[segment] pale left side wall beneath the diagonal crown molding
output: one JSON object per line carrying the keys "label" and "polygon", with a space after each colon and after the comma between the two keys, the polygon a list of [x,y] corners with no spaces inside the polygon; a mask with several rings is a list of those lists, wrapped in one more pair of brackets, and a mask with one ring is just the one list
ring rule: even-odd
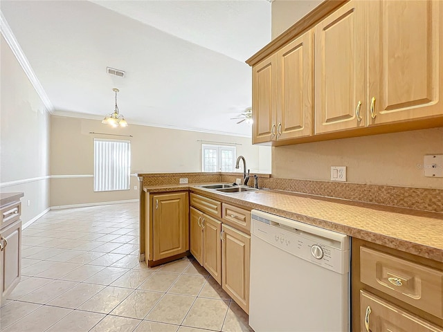
{"label": "pale left side wall beneath the diagonal crown molding", "polygon": [[0,190],[24,192],[26,223],[49,207],[50,116],[3,36],[0,43]]}

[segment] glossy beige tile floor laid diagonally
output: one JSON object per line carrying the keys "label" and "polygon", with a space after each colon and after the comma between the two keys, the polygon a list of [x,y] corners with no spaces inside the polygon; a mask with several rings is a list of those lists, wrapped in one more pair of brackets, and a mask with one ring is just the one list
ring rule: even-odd
{"label": "glossy beige tile floor laid diagonally", "polygon": [[22,244],[2,332],[252,331],[192,257],[156,268],[138,262],[138,203],[51,210]]}

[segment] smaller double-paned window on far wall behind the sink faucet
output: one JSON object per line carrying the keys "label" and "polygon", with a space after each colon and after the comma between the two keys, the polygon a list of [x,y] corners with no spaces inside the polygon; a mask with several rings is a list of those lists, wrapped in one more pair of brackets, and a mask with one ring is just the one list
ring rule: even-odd
{"label": "smaller double-paned window on far wall behind the sink faucet", "polygon": [[201,145],[201,172],[234,172],[235,147]]}

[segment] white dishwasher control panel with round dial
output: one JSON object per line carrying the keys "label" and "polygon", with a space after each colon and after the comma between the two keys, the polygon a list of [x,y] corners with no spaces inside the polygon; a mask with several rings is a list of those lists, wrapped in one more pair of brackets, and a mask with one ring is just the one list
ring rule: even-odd
{"label": "white dishwasher control panel with round dial", "polygon": [[[336,273],[349,272],[349,250],[336,248],[335,243],[330,239],[313,234],[315,230],[306,232],[297,227],[289,227],[263,217],[257,218],[254,215],[251,216],[251,219],[252,236],[256,236],[300,259],[305,259]],[[321,230],[323,231],[323,229]],[[322,233],[322,235],[324,234]],[[340,235],[343,237],[343,241],[349,242],[347,236]]]}

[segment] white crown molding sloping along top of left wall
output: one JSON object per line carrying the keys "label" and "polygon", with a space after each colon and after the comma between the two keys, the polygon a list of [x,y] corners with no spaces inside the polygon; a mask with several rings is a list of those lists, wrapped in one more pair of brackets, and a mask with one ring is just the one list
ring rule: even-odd
{"label": "white crown molding sloping along top of left wall", "polygon": [[19,45],[19,42],[17,42],[17,39],[15,38],[15,35],[12,33],[8,21],[6,21],[6,18],[3,16],[3,12],[1,12],[1,10],[0,10],[0,31],[1,35],[3,35],[9,47],[11,48],[12,53],[15,55],[17,61],[21,65],[21,68],[23,68],[26,76],[28,77],[28,80],[30,81],[31,84],[33,84],[33,87],[37,92],[37,94],[39,95],[40,99],[42,100],[46,108],[46,111],[52,114],[54,112],[54,106],[51,100],[49,100],[48,95],[46,95],[46,92],[44,91],[42,84],[40,84],[37,75],[35,75],[33,68],[30,66],[30,63],[28,62],[26,55],[24,55],[23,50]]}

